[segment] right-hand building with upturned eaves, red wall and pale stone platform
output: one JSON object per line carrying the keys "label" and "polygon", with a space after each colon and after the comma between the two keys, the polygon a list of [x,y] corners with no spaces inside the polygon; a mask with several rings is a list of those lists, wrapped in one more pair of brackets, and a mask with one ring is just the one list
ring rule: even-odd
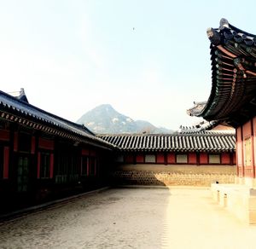
{"label": "right-hand building with upturned eaves, red wall and pale stone platform", "polygon": [[256,36],[222,19],[207,30],[211,41],[212,90],[191,116],[236,128],[236,184],[212,185],[216,200],[256,223]]}

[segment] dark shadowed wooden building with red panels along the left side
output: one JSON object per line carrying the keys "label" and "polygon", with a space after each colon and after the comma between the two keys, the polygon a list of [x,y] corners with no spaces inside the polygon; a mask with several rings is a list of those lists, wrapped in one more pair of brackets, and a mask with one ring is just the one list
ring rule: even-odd
{"label": "dark shadowed wooden building with red panels along the left side", "polygon": [[0,91],[1,211],[106,184],[114,146]]}

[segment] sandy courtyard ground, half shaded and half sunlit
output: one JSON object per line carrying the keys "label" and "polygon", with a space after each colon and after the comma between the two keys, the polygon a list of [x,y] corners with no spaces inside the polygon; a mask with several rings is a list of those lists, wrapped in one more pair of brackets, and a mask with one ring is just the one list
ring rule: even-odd
{"label": "sandy courtyard ground, half shaded and half sunlit", "polygon": [[114,188],[0,223],[0,248],[256,248],[207,188]]}

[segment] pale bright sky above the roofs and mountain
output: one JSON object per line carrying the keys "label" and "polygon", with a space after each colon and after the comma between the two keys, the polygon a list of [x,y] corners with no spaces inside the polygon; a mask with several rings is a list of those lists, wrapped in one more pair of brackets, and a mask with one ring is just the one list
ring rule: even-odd
{"label": "pale bright sky above the roofs and mountain", "polygon": [[207,28],[256,34],[255,1],[0,0],[0,90],[76,122],[101,104],[177,130],[212,87]]}

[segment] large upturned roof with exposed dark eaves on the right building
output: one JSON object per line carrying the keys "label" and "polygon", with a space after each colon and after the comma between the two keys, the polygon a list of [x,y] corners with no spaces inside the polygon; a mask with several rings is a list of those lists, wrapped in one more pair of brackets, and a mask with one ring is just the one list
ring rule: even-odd
{"label": "large upturned roof with exposed dark eaves on the right building", "polygon": [[238,126],[256,114],[256,36],[222,19],[207,30],[211,41],[212,90],[189,115]]}

